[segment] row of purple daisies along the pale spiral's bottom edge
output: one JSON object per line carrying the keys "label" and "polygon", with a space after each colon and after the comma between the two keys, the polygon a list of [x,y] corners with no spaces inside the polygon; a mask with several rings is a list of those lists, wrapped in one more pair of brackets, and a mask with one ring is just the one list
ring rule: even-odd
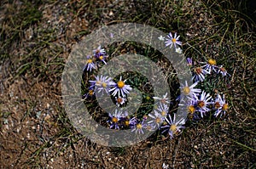
{"label": "row of purple daisies along the pale spiral's bottom edge", "polygon": [[[176,114],[173,117],[168,113],[168,104],[170,104],[170,99],[167,97],[167,93],[161,98],[154,97],[156,101],[156,109],[153,113],[148,115],[143,115],[143,118],[139,119],[137,116],[131,118],[127,112],[122,110],[115,110],[113,114],[109,114],[109,127],[113,129],[128,129],[131,128],[131,132],[136,134],[143,134],[145,131],[155,131],[157,129],[163,129],[162,132],[167,132],[170,138],[184,128],[185,119],[176,119]],[[165,123],[165,126],[162,124]]]}

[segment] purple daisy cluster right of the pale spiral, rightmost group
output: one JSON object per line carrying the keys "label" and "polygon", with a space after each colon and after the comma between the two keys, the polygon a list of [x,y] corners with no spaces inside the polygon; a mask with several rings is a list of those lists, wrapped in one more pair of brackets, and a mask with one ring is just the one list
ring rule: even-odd
{"label": "purple daisy cluster right of the pale spiral, rightmost group", "polygon": [[187,105],[187,111],[189,113],[189,118],[192,120],[198,120],[207,115],[208,112],[213,111],[213,116],[225,115],[226,111],[229,109],[226,100],[224,99],[224,94],[221,96],[217,93],[212,96],[210,93],[201,91],[200,89],[194,89],[193,87],[207,81],[207,76],[230,76],[230,74],[225,70],[223,65],[218,66],[216,59],[208,59],[207,62],[199,62],[199,64],[193,63],[192,59],[187,58],[188,65],[191,67],[193,77],[192,81],[195,83],[190,87],[183,87],[183,93],[189,93],[189,101],[187,103],[181,103]]}

